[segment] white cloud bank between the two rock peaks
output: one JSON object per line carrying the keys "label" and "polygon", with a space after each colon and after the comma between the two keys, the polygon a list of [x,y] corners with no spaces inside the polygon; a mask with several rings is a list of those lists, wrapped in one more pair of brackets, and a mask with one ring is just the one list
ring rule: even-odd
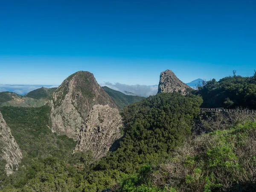
{"label": "white cloud bank between the two rock peaks", "polygon": [[101,84],[101,86],[107,86],[113,90],[118,90],[122,93],[126,93],[126,91],[134,93],[138,96],[144,96],[144,97],[148,97],[150,95],[155,95],[157,94],[158,91],[158,85],[140,85],[140,84],[136,84],[136,85],[128,85],[128,84],[121,84],[121,83],[115,83],[112,84],[110,82],[105,82],[103,84]]}

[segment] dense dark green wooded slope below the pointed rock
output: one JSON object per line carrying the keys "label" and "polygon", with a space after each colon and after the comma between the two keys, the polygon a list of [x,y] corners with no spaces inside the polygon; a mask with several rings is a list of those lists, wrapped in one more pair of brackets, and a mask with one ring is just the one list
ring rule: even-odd
{"label": "dense dark green wooded slope below the pointed rock", "polygon": [[201,98],[160,93],[124,108],[125,135],[120,146],[100,161],[101,169],[134,173],[144,163],[159,163],[191,134]]}

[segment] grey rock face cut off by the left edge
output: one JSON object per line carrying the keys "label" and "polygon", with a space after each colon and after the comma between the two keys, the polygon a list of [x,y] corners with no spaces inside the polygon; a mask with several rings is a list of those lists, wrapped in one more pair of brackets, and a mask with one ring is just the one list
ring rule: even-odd
{"label": "grey rock face cut off by the left edge", "polygon": [[0,113],[0,160],[6,161],[6,175],[11,175],[15,169],[17,170],[21,159],[20,148]]}

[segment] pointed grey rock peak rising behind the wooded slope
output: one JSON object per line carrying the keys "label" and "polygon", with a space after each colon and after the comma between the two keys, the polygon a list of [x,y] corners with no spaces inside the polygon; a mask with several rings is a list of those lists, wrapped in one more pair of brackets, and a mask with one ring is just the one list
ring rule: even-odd
{"label": "pointed grey rock peak rising behind the wooded slope", "polygon": [[178,79],[171,70],[163,71],[160,74],[160,82],[157,93],[178,92],[182,95],[186,95],[189,90],[192,90],[192,88],[180,81],[180,79]]}

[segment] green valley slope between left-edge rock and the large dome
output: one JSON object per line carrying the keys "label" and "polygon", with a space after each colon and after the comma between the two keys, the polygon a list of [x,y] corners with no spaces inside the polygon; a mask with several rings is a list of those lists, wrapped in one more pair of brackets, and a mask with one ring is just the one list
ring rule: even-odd
{"label": "green valley slope between left-edge rock and the large dome", "polygon": [[49,107],[1,107],[0,111],[23,154],[20,168],[14,175],[4,177],[5,173],[0,173],[0,189],[3,186],[22,188],[33,177],[33,169],[39,169],[47,157],[59,160],[71,157],[75,142],[67,136],[57,136],[49,129]]}

